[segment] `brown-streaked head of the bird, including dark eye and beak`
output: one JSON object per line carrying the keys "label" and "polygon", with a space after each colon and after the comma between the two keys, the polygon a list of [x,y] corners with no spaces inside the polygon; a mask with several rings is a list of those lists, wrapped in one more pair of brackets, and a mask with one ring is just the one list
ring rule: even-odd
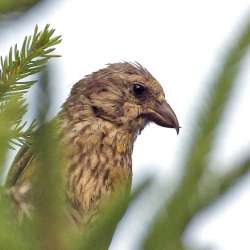
{"label": "brown-streaked head of the bird, including dark eye and beak", "polygon": [[86,116],[141,131],[146,124],[174,128],[177,117],[158,81],[140,64],[114,63],[74,85],[71,96],[85,105]]}

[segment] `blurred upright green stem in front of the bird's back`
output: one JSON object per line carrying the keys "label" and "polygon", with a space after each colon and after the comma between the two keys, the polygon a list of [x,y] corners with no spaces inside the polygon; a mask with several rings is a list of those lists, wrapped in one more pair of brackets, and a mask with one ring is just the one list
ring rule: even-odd
{"label": "blurred upright green stem in front of the bird's back", "polygon": [[[36,194],[33,196],[34,222],[37,238],[48,250],[66,249],[64,229],[67,221],[64,214],[64,193],[60,178],[62,147],[59,143],[56,121],[46,123],[46,115],[53,99],[48,91],[49,67],[43,71],[40,90],[37,93],[37,120],[40,127],[34,134],[34,154],[37,160],[37,173],[34,176]],[[48,205],[49,204],[49,205]],[[28,239],[27,239],[28,240]]]}

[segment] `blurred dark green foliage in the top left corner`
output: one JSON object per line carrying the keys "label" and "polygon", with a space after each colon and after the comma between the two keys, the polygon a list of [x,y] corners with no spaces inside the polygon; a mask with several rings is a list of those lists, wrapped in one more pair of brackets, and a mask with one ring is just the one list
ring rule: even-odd
{"label": "blurred dark green foliage in the top left corner", "polygon": [[0,16],[29,10],[41,0],[0,0]]}

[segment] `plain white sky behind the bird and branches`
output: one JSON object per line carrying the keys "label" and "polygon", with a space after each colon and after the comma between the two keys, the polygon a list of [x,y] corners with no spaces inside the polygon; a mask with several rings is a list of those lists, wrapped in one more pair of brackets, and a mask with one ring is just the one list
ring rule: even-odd
{"label": "plain white sky behind the bird and branches", "polygon": [[[55,64],[58,106],[73,83],[106,63],[128,60],[147,67],[163,85],[182,129],[178,137],[173,130],[155,125],[145,129],[133,155],[134,182],[140,182],[149,174],[156,175],[160,185],[166,179],[172,182],[180,175],[177,163],[192,130],[196,107],[202,105],[208,76],[220,63],[239,24],[250,14],[250,1],[51,2],[51,8],[31,12],[20,22],[13,23],[11,30],[1,30],[1,54],[32,33],[36,23],[40,27],[51,23],[57,33],[63,35],[59,46],[63,57]],[[249,65],[248,58],[239,79],[240,89],[234,94],[221,127],[221,138],[213,154],[215,162],[230,163],[242,151],[250,150]],[[248,176],[223,202],[200,215],[192,223],[186,240],[216,250],[248,250],[249,181]],[[146,214],[154,204],[151,195],[130,209],[111,250],[137,249],[136,239],[145,230]]]}

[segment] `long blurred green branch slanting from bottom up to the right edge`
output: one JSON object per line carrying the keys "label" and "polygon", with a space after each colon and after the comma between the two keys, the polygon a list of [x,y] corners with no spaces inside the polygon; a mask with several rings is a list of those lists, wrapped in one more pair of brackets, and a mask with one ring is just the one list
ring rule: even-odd
{"label": "long blurred green branch slanting from bottom up to the right edge", "polygon": [[[206,108],[203,107],[198,115],[197,126],[193,131],[193,140],[186,152],[183,178],[176,192],[165,202],[161,212],[152,223],[144,242],[144,249],[173,249],[172,247],[181,239],[183,231],[194,215],[190,211],[197,210],[193,207],[193,200],[197,199],[196,195],[202,176],[208,168],[209,153],[215,140],[216,129],[223,118],[225,107],[240,73],[241,62],[249,46],[250,20],[247,21],[242,34],[229,50],[221,70],[210,85],[210,90],[207,91],[209,96]],[[239,170],[239,173],[241,172]],[[237,179],[237,173],[225,177],[222,182],[224,184],[220,188],[221,192],[226,190],[230,184],[235,183]],[[221,192],[214,194],[215,197],[221,195]],[[200,206],[203,205],[198,205],[198,207]]]}

